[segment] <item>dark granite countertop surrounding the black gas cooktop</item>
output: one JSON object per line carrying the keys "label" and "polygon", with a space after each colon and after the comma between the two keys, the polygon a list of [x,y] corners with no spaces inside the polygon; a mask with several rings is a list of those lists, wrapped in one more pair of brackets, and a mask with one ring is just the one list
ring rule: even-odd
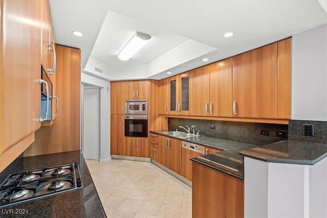
{"label": "dark granite countertop surrounding the black gas cooktop", "polygon": [[[18,157],[0,173],[0,183],[8,175],[44,167],[78,162],[83,188],[57,195],[8,205],[0,209],[1,217],[106,217],[97,190],[80,151],[31,157]],[[28,213],[22,214],[22,211]]]}

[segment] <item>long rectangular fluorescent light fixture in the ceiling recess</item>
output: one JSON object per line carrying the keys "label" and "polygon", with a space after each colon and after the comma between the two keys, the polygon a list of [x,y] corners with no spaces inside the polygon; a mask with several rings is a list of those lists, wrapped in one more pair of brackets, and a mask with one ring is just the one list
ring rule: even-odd
{"label": "long rectangular fluorescent light fixture in the ceiling recess", "polygon": [[125,45],[124,49],[118,54],[118,58],[122,61],[127,61],[135,53],[140,50],[149,40],[151,36],[144,33],[136,33],[131,40]]}

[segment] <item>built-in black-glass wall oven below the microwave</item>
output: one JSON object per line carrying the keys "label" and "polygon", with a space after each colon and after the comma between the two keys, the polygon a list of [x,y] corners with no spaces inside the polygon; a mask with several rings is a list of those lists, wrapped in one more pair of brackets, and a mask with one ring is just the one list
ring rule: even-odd
{"label": "built-in black-glass wall oven below the microwave", "polygon": [[148,115],[125,115],[125,136],[148,137]]}

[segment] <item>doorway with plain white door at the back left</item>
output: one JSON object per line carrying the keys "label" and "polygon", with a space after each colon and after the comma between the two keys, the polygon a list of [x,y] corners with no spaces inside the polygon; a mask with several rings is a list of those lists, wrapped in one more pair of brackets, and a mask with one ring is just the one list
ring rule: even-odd
{"label": "doorway with plain white door at the back left", "polygon": [[99,160],[99,87],[83,85],[82,149],[85,159]]}

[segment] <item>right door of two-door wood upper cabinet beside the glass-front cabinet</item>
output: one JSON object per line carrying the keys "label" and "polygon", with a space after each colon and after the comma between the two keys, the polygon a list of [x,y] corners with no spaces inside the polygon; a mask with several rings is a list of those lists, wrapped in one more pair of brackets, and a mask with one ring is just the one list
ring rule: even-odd
{"label": "right door of two-door wood upper cabinet beside the glass-front cabinet", "polygon": [[209,113],[232,117],[232,58],[210,64]]}

